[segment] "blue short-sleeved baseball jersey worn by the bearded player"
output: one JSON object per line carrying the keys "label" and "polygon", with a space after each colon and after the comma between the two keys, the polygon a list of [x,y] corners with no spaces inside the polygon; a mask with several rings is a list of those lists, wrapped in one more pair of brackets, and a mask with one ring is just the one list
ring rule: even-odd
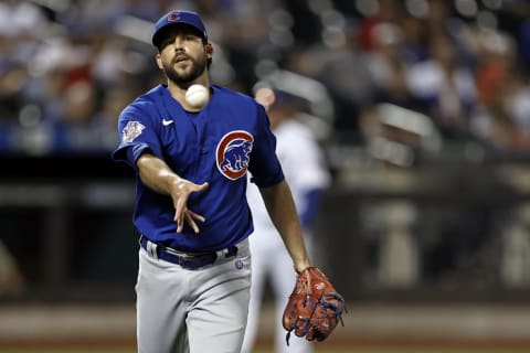
{"label": "blue short-sleeved baseball jersey worn by the bearded player", "polygon": [[[253,232],[246,202],[246,171],[259,186],[284,180],[276,157],[276,139],[268,117],[252,97],[212,86],[209,104],[198,114],[186,111],[159,85],[127,106],[118,120],[120,145],[113,159],[136,170],[136,205],[132,222],[152,242],[182,252],[218,250],[234,245]],[[192,193],[188,208],[205,217],[200,233],[186,224],[177,233],[174,206],[169,195],[144,185],[136,161],[149,151],[181,178],[209,182],[204,192]]]}

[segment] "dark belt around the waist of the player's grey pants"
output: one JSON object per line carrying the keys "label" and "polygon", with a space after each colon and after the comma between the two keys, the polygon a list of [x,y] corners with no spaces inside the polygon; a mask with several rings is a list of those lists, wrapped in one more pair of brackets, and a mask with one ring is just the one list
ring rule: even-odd
{"label": "dark belt around the waist of the player's grey pants", "polygon": [[[150,240],[145,236],[140,237],[140,245],[142,248],[147,250],[147,253],[150,253],[150,249],[148,248],[149,242]],[[172,249],[170,247],[167,247],[165,245],[156,244],[153,242],[150,242],[150,243],[155,245],[155,252],[158,258],[172,264],[180,265],[182,268],[186,268],[186,269],[197,269],[200,267],[212,265],[213,263],[215,263],[220,254],[223,254],[225,258],[230,258],[237,255],[236,246],[230,246],[219,252],[184,254],[176,249]]]}

